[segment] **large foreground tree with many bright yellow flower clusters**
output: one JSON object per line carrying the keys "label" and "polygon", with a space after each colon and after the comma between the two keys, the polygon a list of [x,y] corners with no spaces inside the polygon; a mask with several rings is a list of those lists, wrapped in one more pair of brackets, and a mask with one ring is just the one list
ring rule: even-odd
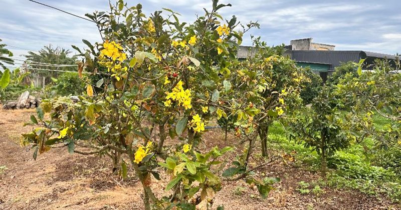
{"label": "large foreground tree with many bright yellow flower clusters", "polygon": [[[222,187],[213,169],[221,163],[216,158],[232,148],[200,151],[205,124],[241,112],[239,124],[246,126],[257,112],[230,96],[233,85],[227,79],[238,62],[243,33],[257,24],[243,26],[235,16],[224,20],[217,11],[225,6],[230,4],[214,0],[212,11],[205,9],[192,24],[180,22],[170,9],[164,9],[166,16],[155,11],[146,17],[141,4],[128,7],[122,0],[108,13],[87,14],[103,38],[95,44],[83,40],[86,50],[73,46],[85,56],[80,74],[92,72],[85,80],[87,94],[77,103],[66,97],[44,100],[39,119],[31,116],[42,127],[24,134],[23,144],[32,144],[35,158],[60,146],[71,153],[106,155],[123,176],[131,163],[146,209],[209,206]],[[167,136],[178,143],[166,145]],[[165,197],[150,187],[160,167],[171,175],[165,189],[172,193]],[[274,182],[250,180],[264,196]]]}

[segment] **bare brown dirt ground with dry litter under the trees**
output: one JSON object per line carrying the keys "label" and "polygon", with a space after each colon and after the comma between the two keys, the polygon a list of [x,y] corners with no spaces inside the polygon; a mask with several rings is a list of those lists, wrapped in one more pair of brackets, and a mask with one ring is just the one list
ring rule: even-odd
{"label": "bare brown dirt ground with dry litter under the trees", "polygon": [[[65,149],[51,149],[35,161],[29,148],[21,147],[20,135],[32,126],[23,126],[34,110],[0,108],[0,209],[142,209],[142,189],[135,178],[122,181],[111,174],[109,159],[69,154]],[[205,146],[222,142],[223,132],[205,136]],[[224,145],[224,142],[221,143]],[[244,181],[223,182],[214,209],[398,209],[385,197],[358,191],[323,188],[325,193],[300,194],[298,182],[313,181],[318,174],[293,164],[276,162],[258,173],[280,177],[276,189],[262,199],[256,189]],[[134,174],[131,174],[134,177]],[[151,187],[162,192],[168,177],[152,180]]]}

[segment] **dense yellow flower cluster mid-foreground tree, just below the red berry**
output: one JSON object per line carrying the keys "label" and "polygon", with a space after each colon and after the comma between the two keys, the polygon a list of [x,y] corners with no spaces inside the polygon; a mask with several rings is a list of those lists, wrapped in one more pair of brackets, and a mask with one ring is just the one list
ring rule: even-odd
{"label": "dense yellow flower cluster mid-foreground tree, just below the red berry", "polygon": [[171,100],[178,101],[178,105],[184,106],[185,109],[192,108],[191,91],[182,87],[182,81],[179,80],[177,85],[172,89],[172,92],[167,93],[164,105],[171,106]]}

